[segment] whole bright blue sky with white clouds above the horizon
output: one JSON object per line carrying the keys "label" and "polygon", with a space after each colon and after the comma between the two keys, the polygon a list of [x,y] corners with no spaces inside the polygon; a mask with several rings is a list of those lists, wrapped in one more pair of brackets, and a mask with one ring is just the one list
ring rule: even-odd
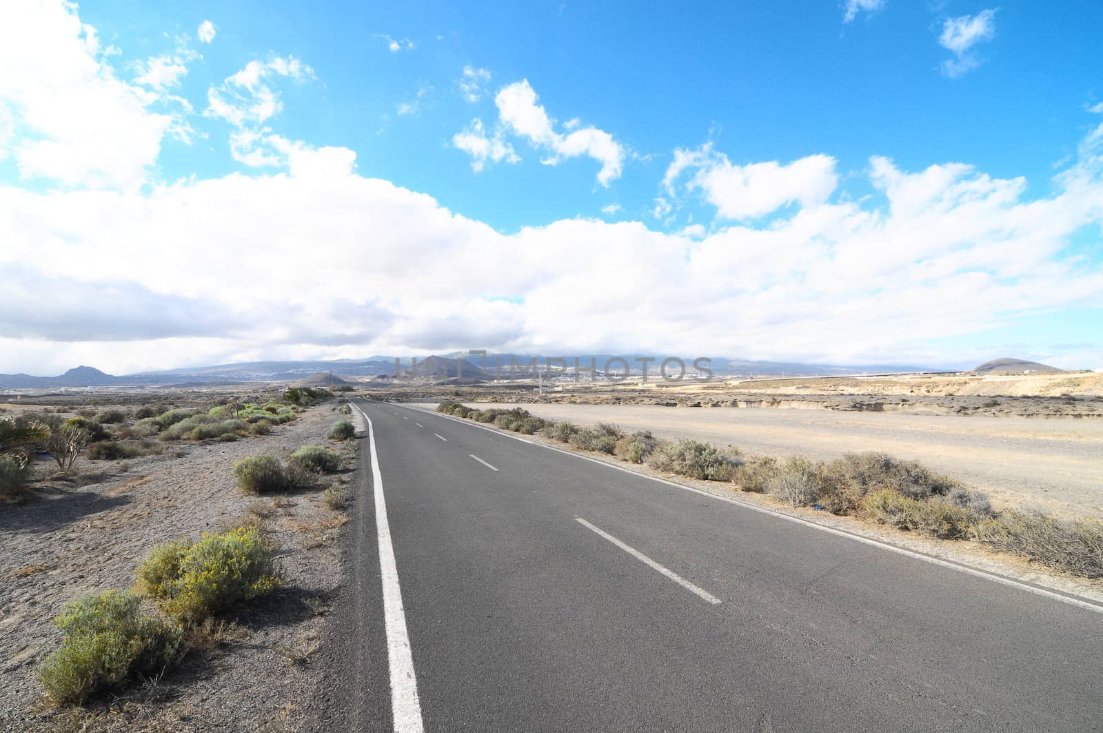
{"label": "whole bright blue sky with white clouds above the horizon", "polygon": [[[0,330],[0,369],[618,347],[1103,366],[1099,3],[31,4],[0,11],[20,59],[41,54],[0,82],[0,190],[25,209],[9,242],[53,243],[72,272],[36,277],[103,307],[73,314],[94,338],[61,306]],[[206,196],[236,210],[200,221]],[[51,204],[87,219],[58,232]],[[265,232],[271,206],[293,221]],[[260,322],[210,268],[154,272],[182,217],[207,254],[293,269],[321,247],[350,279],[269,274],[302,295]],[[491,273],[447,280],[467,268]],[[621,277],[638,289],[601,291]],[[93,321],[118,291],[226,317],[113,336]],[[561,300],[574,326],[542,316]]]}

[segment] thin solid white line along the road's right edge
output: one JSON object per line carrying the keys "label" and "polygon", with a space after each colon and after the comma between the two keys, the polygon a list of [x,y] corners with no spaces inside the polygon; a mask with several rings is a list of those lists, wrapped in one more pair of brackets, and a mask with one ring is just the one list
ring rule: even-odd
{"label": "thin solid white line along the road's right edge", "polygon": [[451,415],[443,415],[443,414],[440,414],[440,413],[431,412],[429,410],[422,410],[420,407],[410,407],[410,406],[406,406],[406,405],[403,405],[403,406],[406,410],[417,410],[418,412],[422,412],[422,413],[425,413],[427,415],[436,415],[438,417],[443,417],[446,419],[454,421],[457,423],[460,423],[461,425],[468,425],[470,427],[478,427],[480,429],[489,431],[490,433],[494,433],[495,435],[501,435],[502,437],[511,438],[513,440],[520,440],[521,443],[527,443],[529,445],[535,445],[535,446],[539,446],[542,448],[547,448],[548,450],[555,450],[555,452],[561,453],[561,454],[564,454],[566,456],[574,456],[575,458],[581,458],[582,460],[589,460],[590,463],[598,464],[599,466],[606,466],[608,468],[612,468],[612,469],[615,469],[615,470],[619,470],[619,471],[624,471],[625,474],[631,474],[633,476],[639,476],[640,478],[650,479],[652,481],[657,481],[660,484],[666,484],[667,486],[677,487],[679,489],[684,489],[685,491],[693,491],[694,493],[699,493],[703,497],[708,497],[710,499],[716,499],[718,501],[725,501],[727,503],[735,504],[737,507],[742,507],[745,509],[750,509],[751,511],[757,511],[757,512],[762,513],[762,514],[770,514],[771,517],[777,517],[778,519],[783,519],[786,522],[794,522],[796,524],[803,524],[805,527],[811,527],[812,529],[820,530],[821,532],[827,532],[828,534],[834,534],[836,537],[847,538],[849,540],[854,540],[856,542],[861,542],[863,544],[868,544],[868,545],[871,545],[871,546],[875,546],[875,548],[880,548],[881,550],[888,550],[889,552],[895,552],[897,554],[904,555],[907,557],[913,557],[915,560],[922,560],[923,562],[931,563],[932,565],[940,565],[942,567],[947,567],[950,570],[955,570],[955,571],[957,571],[960,573],[966,573],[966,574],[973,575],[975,577],[983,577],[983,578],[993,581],[994,583],[999,583],[1002,585],[1007,585],[1007,586],[1013,587],[1013,588],[1019,588],[1020,591],[1026,591],[1027,593],[1032,593],[1035,595],[1042,596],[1045,598],[1050,598],[1052,601],[1060,601],[1061,603],[1067,603],[1070,606],[1079,606],[1080,608],[1086,608],[1088,610],[1094,610],[1096,614],[1103,614],[1103,604],[1099,604],[1099,603],[1096,603],[1094,601],[1085,601],[1085,599],[1083,599],[1083,598],[1081,598],[1079,596],[1067,595],[1064,593],[1058,593],[1057,591],[1049,591],[1047,588],[1038,587],[1036,585],[1030,585],[1029,583],[1024,583],[1021,581],[1016,581],[1015,578],[1007,577],[1006,575],[999,575],[998,573],[992,573],[989,571],[981,570],[978,567],[972,567],[970,565],[963,565],[961,563],[951,562],[949,560],[942,560],[941,557],[934,557],[934,556],[931,556],[931,555],[923,554],[921,552],[915,552],[913,550],[908,550],[906,548],[898,548],[897,545],[889,544],[888,542],[881,542],[880,540],[875,540],[872,538],[863,537],[860,534],[854,534],[853,532],[846,532],[844,530],[835,529],[834,527],[826,527],[824,524],[818,524],[816,522],[811,522],[811,521],[808,521],[806,519],[801,519],[800,517],[791,517],[789,514],[784,514],[784,513],[782,513],[780,511],[774,511],[774,510],[768,509],[765,507],[756,507],[754,504],[748,503],[746,501],[739,501],[738,499],[731,499],[731,498],[728,498],[728,497],[721,497],[719,495],[711,493],[709,491],[703,491],[703,490],[696,489],[696,488],[694,488],[692,486],[686,486],[685,484],[678,484],[677,481],[670,481],[670,480],[667,480],[665,478],[658,478],[657,476],[647,476],[646,474],[641,474],[641,472],[634,471],[634,470],[632,470],[630,468],[624,468],[622,466],[617,466],[615,464],[607,464],[603,460],[598,460],[597,458],[590,458],[589,456],[583,456],[581,454],[572,453],[570,450],[564,450],[563,448],[557,448],[557,447],[555,447],[553,445],[545,445],[543,443],[537,443],[535,440],[526,440],[525,438],[521,438],[521,437],[517,437],[515,435],[510,435],[508,433],[504,433],[502,431],[494,429],[493,427],[486,427],[485,425],[480,425],[478,423],[472,423],[471,421],[460,419],[459,417],[452,417]]}

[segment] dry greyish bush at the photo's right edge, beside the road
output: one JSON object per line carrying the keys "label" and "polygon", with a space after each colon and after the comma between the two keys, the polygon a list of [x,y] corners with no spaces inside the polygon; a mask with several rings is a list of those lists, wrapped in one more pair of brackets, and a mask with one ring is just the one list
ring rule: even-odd
{"label": "dry greyish bush at the photo's right edge, beside the road", "polygon": [[1007,510],[982,521],[976,538],[1053,570],[1103,577],[1103,522],[1060,520],[1043,513]]}

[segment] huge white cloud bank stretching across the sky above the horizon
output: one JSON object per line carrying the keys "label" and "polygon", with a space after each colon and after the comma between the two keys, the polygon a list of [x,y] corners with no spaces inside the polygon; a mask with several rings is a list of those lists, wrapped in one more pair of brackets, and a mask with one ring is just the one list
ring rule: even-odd
{"label": "huge white cloud bank stretching across the sky above the horizon", "polygon": [[[1103,307],[1103,272],[1065,249],[1078,231],[1103,223],[1103,128],[1084,138],[1041,198],[1028,196],[1022,179],[963,163],[907,170],[874,157],[860,184],[875,193],[860,203],[832,202],[827,184],[786,185],[767,203],[739,203],[747,181],[759,180],[746,169],[758,163],[728,163],[745,169],[733,174],[740,195],[718,208],[801,205],[765,224],[752,217],[677,234],[592,219],[503,234],[428,195],[357,174],[350,150],[287,145],[287,173],[149,193],[0,188],[0,242],[13,245],[0,247],[0,267],[33,248],[51,277],[119,287],[117,263],[125,262],[135,288],[128,297],[174,298],[201,319],[233,314],[222,341],[173,337],[164,365],[194,359],[197,348],[211,359],[705,346],[750,358],[861,361],[891,350],[908,359],[930,340],[1021,314]],[[694,162],[683,173],[696,176]],[[831,166],[811,168],[834,174]],[[768,169],[784,179],[802,167]],[[729,174],[724,164],[717,170]],[[341,267],[303,267],[304,258]],[[246,263],[255,277],[229,263]],[[334,307],[334,293],[355,295]],[[25,310],[51,312],[53,294],[29,289]],[[96,288],[82,290],[82,300],[94,314],[118,307]],[[620,323],[613,334],[610,322]],[[33,339],[66,336],[62,328],[46,319],[0,330],[9,346],[29,344],[3,350],[0,371],[28,366],[23,354],[40,353]],[[150,333],[142,328],[131,328],[136,338]],[[95,360],[84,348],[72,353],[105,369],[148,365],[143,341],[105,347]]]}

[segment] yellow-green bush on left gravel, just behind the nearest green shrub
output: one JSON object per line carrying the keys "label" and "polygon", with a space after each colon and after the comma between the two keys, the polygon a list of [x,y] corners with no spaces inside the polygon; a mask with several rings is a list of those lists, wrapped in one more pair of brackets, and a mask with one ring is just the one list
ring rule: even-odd
{"label": "yellow-green bush on left gravel, just behind the nearest green shrub", "polygon": [[274,546],[256,527],[203,534],[194,544],[159,545],[138,569],[140,591],[190,623],[231,610],[277,585]]}

